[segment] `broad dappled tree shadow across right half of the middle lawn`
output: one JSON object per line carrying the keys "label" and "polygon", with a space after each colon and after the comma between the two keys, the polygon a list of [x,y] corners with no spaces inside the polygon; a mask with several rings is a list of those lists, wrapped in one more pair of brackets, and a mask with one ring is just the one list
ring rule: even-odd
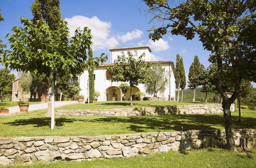
{"label": "broad dappled tree shadow across right half of the middle lawn", "polygon": [[[238,117],[233,117],[238,118]],[[242,118],[244,125],[233,124],[233,128],[255,128],[256,119]],[[223,116],[221,115],[164,115],[164,116],[134,116],[134,117],[100,117],[87,122],[96,123],[128,123],[128,129],[135,132],[145,132],[148,129],[158,131],[175,130],[204,130],[224,129]]]}

